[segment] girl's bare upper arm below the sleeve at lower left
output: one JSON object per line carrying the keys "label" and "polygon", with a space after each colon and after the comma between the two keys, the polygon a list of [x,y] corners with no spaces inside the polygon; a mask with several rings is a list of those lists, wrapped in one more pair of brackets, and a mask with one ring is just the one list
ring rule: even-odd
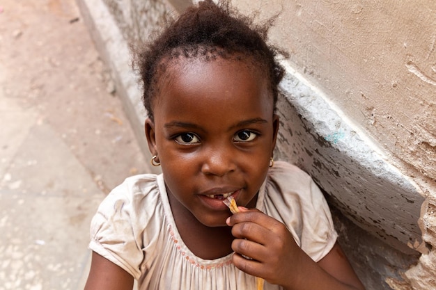
{"label": "girl's bare upper arm below the sleeve at lower left", "polygon": [[85,290],[132,290],[133,277],[123,268],[93,252]]}

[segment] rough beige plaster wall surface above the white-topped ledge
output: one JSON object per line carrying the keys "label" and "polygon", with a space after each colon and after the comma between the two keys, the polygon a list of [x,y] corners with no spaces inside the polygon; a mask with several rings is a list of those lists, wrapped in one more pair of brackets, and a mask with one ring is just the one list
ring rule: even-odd
{"label": "rough beige plaster wall surface above the white-topped ledge", "polygon": [[403,170],[435,182],[435,1],[233,2],[260,18],[281,13],[271,40],[293,67]]}

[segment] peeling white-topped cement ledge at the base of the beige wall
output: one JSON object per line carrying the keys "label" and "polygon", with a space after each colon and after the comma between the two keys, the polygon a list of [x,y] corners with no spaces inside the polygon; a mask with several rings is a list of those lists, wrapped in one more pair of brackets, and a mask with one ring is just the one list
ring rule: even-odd
{"label": "peeling white-topped cement ledge at the base of the beige wall", "polygon": [[287,61],[282,64],[281,158],[309,172],[359,227],[407,254],[425,248],[418,225],[425,201],[419,186],[318,88]]}

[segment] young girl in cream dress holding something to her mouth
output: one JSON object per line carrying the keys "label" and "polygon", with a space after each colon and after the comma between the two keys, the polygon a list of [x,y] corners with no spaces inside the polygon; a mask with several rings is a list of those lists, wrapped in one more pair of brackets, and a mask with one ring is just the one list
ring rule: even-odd
{"label": "young girl in cream dress holding something to her mouth", "polygon": [[[191,8],[139,54],[151,160],[91,225],[86,290],[364,289],[308,175],[272,159],[283,69],[228,5]],[[235,198],[232,215],[224,199]],[[262,287],[262,286],[261,286]]]}

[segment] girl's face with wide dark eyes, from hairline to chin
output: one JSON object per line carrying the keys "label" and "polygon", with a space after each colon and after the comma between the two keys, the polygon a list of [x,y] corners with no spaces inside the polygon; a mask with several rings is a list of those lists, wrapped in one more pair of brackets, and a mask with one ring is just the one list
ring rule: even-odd
{"label": "girl's face with wide dark eyes, from hairline to chin", "polygon": [[226,225],[228,195],[255,206],[279,127],[267,85],[251,62],[221,58],[182,58],[159,77],[150,151],[170,198],[203,225]]}

